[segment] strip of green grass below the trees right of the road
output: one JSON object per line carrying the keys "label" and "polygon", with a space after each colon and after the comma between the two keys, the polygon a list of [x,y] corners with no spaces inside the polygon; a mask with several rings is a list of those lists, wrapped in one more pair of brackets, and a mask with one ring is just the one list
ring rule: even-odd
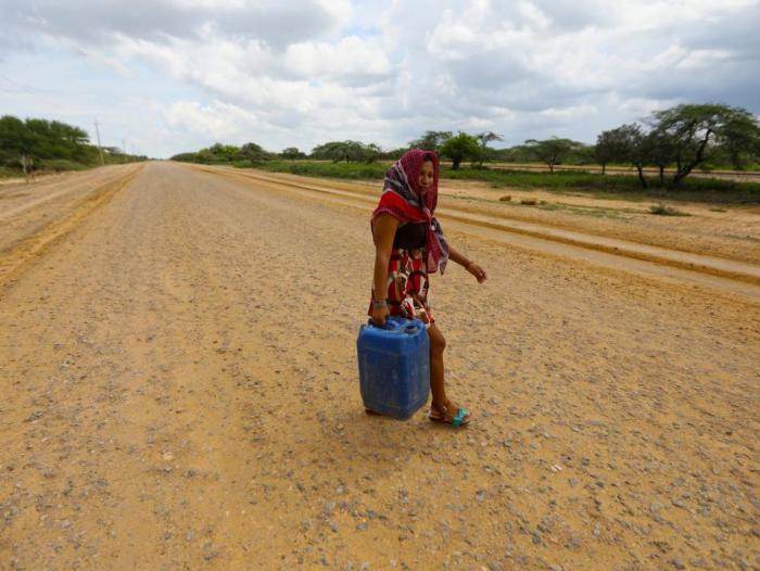
{"label": "strip of green grass below the trees right of the road", "polygon": [[[317,161],[267,161],[253,165],[273,173],[382,180],[390,163],[328,163]],[[242,166],[242,165],[241,165]],[[642,188],[638,178],[625,175],[597,175],[582,172],[535,173],[490,168],[443,168],[441,178],[480,180],[492,188],[542,189],[557,193],[583,192],[598,199],[647,201],[670,200],[712,204],[760,204],[760,182],[737,182],[711,178],[687,178],[677,190]],[[649,179],[655,183],[655,179]]]}

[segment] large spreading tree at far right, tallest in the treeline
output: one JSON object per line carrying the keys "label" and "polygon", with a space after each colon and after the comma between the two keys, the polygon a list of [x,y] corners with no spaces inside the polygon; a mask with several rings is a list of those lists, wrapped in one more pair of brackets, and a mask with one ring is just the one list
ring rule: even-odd
{"label": "large spreading tree at far right, tallest in the treeline", "polygon": [[677,187],[695,167],[708,162],[718,149],[731,149],[735,157],[743,150],[760,148],[760,124],[749,111],[722,104],[685,104],[654,114],[654,130],[667,135],[673,144]]}

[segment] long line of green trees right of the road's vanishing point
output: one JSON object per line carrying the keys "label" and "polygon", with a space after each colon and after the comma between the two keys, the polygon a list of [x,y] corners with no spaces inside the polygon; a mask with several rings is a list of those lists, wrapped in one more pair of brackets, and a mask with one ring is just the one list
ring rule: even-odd
{"label": "long line of green trees right of the road's vanishing point", "polygon": [[[529,139],[508,149],[494,149],[493,141],[503,137],[486,131],[476,135],[452,131],[426,131],[408,147],[382,150],[378,144],[360,141],[329,141],[306,154],[291,147],[280,153],[249,142],[242,147],[216,143],[198,152],[172,157],[202,164],[228,164],[246,167],[273,160],[303,158],[333,163],[367,163],[393,161],[408,149],[438,152],[452,162],[457,170],[469,162],[472,167],[487,168],[485,163],[541,162],[554,173],[557,165],[630,165],[637,169],[643,187],[653,181],[644,176],[648,167],[659,168],[655,183],[677,187],[695,168],[709,170],[720,167],[757,168],[760,161],[760,124],[750,112],[722,104],[679,105],[655,113],[644,124],[622,125],[601,132],[596,144],[570,139]],[[672,173],[666,178],[666,172]]]}

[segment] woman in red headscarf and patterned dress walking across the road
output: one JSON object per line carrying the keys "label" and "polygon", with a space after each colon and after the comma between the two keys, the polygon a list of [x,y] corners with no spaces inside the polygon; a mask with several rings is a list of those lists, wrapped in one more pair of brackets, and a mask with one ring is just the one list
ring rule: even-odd
{"label": "woman in red headscarf and patterned dress walking across the road", "polygon": [[438,204],[439,160],[431,151],[408,151],[387,173],[378,207],[372,213],[375,279],[369,315],[384,325],[389,315],[418,318],[430,338],[430,420],[454,427],[470,415],[446,396],[443,351],[446,340],[428,304],[428,275],[446,268],[448,259],[463,266],[479,283],[485,271],[447,244],[433,217]]}

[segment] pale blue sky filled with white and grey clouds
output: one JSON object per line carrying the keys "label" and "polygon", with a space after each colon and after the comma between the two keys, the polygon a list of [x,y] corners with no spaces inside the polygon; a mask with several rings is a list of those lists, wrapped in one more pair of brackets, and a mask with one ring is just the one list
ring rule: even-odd
{"label": "pale blue sky filled with white and grey clouds", "polygon": [[0,115],[153,157],[760,114],[760,0],[0,0]]}

